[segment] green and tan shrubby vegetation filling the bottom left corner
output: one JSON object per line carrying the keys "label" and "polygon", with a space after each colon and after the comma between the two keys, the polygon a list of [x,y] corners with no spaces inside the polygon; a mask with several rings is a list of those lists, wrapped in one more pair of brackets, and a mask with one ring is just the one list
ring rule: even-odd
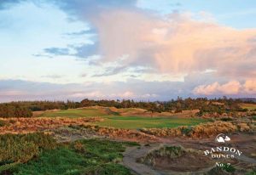
{"label": "green and tan shrubby vegetation filling the bottom left corner", "polygon": [[101,139],[56,144],[43,133],[7,134],[0,139],[0,173],[15,175],[130,175],[127,168],[119,165],[121,153],[125,146],[137,145]]}

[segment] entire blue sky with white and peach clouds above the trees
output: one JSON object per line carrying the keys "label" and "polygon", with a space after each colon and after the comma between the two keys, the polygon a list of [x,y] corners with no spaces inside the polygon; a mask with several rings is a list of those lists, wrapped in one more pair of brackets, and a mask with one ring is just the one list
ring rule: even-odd
{"label": "entire blue sky with white and peach clouds above the trees", "polygon": [[0,102],[256,98],[254,0],[0,0]]}

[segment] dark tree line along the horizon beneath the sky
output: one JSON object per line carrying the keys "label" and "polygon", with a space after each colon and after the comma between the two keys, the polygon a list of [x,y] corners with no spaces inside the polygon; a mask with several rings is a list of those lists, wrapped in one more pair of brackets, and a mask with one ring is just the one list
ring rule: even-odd
{"label": "dark tree line along the horizon beneath the sky", "polygon": [[[220,99],[172,99],[170,101],[134,101],[130,99],[123,100],[94,100],[83,99],[80,102],[64,101],[18,101],[11,103],[0,104],[0,117],[31,117],[32,111],[41,110],[67,110],[89,106],[103,106],[116,108],[142,108],[151,112],[174,111],[181,112],[182,110],[200,110],[199,115],[204,113],[217,112],[218,114],[229,113],[233,111],[245,111],[239,105],[243,101],[241,99],[228,99],[226,97]],[[253,101],[248,103],[255,103]]]}

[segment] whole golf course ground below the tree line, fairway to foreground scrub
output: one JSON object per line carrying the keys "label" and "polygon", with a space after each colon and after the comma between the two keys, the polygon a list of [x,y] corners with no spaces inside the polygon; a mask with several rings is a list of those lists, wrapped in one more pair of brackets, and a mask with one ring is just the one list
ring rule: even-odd
{"label": "whole golf course ground below the tree line, fairway to foreground scrub", "polygon": [[[0,118],[0,174],[254,173],[253,116],[206,118],[195,112],[92,106]],[[218,133],[229,134],[230,145],[243,154],[229,160],[228,169],[216,169],[201,154]]]}

